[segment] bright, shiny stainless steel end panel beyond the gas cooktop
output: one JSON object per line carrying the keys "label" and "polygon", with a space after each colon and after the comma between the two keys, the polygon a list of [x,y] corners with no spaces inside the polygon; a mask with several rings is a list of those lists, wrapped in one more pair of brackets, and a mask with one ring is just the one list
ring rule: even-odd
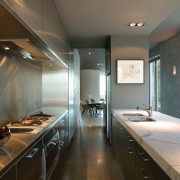
{"label": "bright, shiny stainless steel end panel beyond the gas cooktop", "polygon": [[68,109],[68,69],[43,69],[42,106]]}

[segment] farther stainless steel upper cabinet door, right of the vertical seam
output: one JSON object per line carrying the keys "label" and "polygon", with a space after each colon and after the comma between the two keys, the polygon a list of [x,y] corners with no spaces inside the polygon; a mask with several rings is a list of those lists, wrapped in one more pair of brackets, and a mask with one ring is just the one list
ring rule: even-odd
{"label": "farther stainless steel upper cabinet door, right of the vertical seam", "polygon": [[[51,13],[53,12],[53,13]],[[54,52],[68,63],[69,40],[63,23],[52,0],[43,0],[43,38]]]}

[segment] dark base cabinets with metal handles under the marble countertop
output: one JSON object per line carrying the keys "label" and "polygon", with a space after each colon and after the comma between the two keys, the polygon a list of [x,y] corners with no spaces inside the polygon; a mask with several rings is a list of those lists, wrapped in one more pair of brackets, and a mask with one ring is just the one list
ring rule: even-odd
{"label": "dark base cabinets with metal handles under the marble countertop", "polygon": [[112,116],[112,149],[125,180],[170,180],[114,116]]}

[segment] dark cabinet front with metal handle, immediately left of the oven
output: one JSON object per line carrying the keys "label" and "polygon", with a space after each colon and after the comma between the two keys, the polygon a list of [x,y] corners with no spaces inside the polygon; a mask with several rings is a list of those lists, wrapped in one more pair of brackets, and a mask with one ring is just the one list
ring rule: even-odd
{"label": "dark cabinet front with metal handle, immediately left of the oven", "polygon": [[42,141],[39,141],[17,162],[17,180],[39,180],[41,177]]}

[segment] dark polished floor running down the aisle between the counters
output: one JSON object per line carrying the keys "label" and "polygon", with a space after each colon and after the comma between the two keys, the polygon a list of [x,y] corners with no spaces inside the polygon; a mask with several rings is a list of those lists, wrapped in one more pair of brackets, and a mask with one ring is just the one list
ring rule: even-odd
{"label": "dark polished floor running down the aisle between the counters", "polygon": [[105,138],[103,115],[85,113],[55,180],[124,180],[121,168]]}

